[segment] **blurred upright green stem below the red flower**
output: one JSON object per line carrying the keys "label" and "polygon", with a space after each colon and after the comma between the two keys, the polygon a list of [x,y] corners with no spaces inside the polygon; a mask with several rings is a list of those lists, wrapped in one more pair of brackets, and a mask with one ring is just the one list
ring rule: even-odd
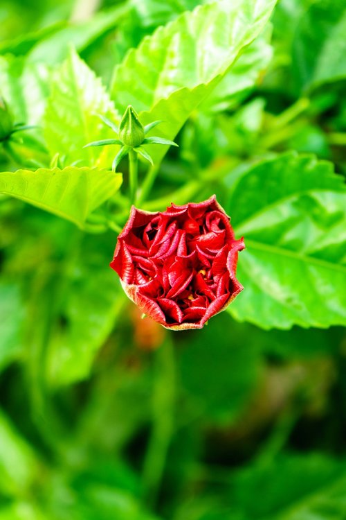
{"label": "blurred upright green stem below the red flower", "polygon": [[174,349],[169,334],[154,354],[156,378],[152,396],[153,426],[143,465],[143,491],[152,508],[160,491],[173,431],[175,367]]}

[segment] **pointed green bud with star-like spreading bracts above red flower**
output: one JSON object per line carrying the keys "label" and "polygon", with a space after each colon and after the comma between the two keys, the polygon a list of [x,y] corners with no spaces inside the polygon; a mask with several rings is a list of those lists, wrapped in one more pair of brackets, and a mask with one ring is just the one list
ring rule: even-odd
{"label": "pointed green bud with star-like spreading bracts above red flower", "polygon": [[162,123],[162,121],[153,121],[152,123],[143,126],[143,124],[140,123],[136,110],[134,110],[134,107],[131,105],[129,105],[125,110],[125,113],[120,121],[119,128],[107,117],[100,114],[99,117],[107,126],[109,126],[109,128],[113,130],[113,132],[118,135],[118,139],[102,139],[101,141],[93,141],[92,143],[86,144],[84,148],[88,146],[105,146],[111,144],[120,145],[121,148],[118,151],[116,157],[114,157],[112,164],[112,170],[114,172],[116,171],[120,161],[131,151],[146,159],[150,164],[154,164],[152,157],[150,157],[147,150],[143,148],[143,145],[163,144],[168,146],[178,146],[176,143],[174,143],[174,141],[163,139],[163,137],[146,137],[147,133],[156,125]]}

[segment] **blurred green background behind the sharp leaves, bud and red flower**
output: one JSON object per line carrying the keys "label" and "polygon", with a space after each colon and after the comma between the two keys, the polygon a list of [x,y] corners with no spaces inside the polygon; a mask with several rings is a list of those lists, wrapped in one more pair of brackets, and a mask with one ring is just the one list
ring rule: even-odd
{"label": "blurred green background behind the sharp leaves, bud and red flower", "polygon": [[[1,0],[0,91],[20,77],[12,92],[35,105],[26,67],[46,89],[71,44],[109,85],[129,49],[198,3]],[[286,150],[345,175],[345,24],[343,1],[280,1],[253,78],[192,114],[152,198],[203,172],[199,198],[225,202],[219,172]],[[49,164],[39,131],[16,146],[0,148],[1,171]],[[0,520],[346,519],[344,329],[224,312],[172,333],[122,295],[114,232],[7,196],[0,226]]]}

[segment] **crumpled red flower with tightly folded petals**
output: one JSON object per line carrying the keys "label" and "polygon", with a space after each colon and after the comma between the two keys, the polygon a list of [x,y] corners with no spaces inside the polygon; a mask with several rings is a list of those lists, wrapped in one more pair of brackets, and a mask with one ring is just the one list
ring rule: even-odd
{"label": "crumpled red flower with tightly folded petals", "polygon": [[243,287],[230,219],[216,197],[149,213],[131,208],[113,268],[127,296],[167,329],[201,329]]}

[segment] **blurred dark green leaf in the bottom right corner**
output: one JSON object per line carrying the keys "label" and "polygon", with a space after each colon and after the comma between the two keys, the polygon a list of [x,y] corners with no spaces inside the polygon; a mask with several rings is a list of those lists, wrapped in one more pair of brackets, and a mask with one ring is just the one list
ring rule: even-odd
{"label": "blurred dark green leaf in the bottom right corner", "polygon": [[345,514],[345,462],[322,454],[286,453],[231,481],[230,520],[336,520]]}

